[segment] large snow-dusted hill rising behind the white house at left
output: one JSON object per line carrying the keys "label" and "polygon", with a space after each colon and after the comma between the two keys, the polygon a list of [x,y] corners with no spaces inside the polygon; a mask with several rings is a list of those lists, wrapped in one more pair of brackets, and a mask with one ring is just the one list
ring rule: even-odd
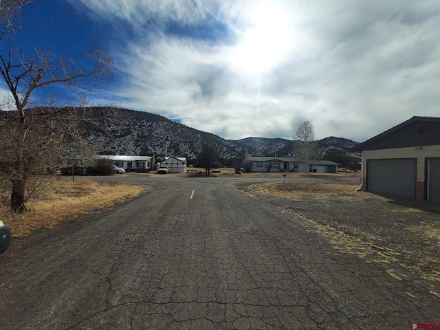
{"label": "large snow-dusted hill rising behind the white house at left", "polygon": [[[93,108],[91,111],[98,111]],[[96,151],[118,155],[177,155],[195,158],[204,142],[211,142],[221,157],[230,159],[244,157],[253,151],[234,140],[225,140],[218,135],[198,131],[173,122],[162,115],[127,109],[113,109],[117,120],[106,132],[90,129],[87,140]]]}

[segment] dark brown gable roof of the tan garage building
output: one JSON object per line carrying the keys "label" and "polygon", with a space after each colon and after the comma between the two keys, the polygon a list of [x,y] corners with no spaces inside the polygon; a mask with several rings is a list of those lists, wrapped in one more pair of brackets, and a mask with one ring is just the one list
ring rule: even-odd
{"label": "dark brown gable roof of the tan garage building", "polygon": [[414,116],[371,139],[351,148],[349,153],[364,150],[404,148],[440,144],[440,118]]}

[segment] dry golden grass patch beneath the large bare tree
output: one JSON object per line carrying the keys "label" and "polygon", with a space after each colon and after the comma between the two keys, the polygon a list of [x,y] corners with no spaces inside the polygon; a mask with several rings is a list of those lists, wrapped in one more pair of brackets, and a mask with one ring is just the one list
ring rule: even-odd
{"label": "dry golden grass patch beneath the large bare tree", "polygon": [[26,203],[28,212],[14,214],[5,207],[0,208],[0,212],[3,222],[10,227],[12,236],[22,237],[32,230],[52,228],[64,219],[94,212],[135,197],[144,189],[142,186],[83,178],[74,182],[52,179],[42,194]]}

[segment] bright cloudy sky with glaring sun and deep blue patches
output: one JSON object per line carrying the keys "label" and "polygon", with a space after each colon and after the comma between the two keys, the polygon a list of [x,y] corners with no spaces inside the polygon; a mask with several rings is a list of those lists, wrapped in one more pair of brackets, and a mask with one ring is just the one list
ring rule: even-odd
{"label": "bright cloudy sky with glaring sun and deep blue patches", "polygon": [[37,0],[22,23],[53,54],[109,51],[91,104],[225,139],[292,140],[309,120],[363,142],[440,116],[438,0]]}

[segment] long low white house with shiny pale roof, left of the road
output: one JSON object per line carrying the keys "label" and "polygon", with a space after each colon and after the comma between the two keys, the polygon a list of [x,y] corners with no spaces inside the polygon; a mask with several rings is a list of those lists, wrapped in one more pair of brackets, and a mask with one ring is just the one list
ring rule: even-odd
{"label": "long low white house with shiny pale roof, left of the road", "polygon": [[[96,161],[98,159],[109,159],[115,166],[125,168],[125,170],[129,172],[137,169],[149,170],[151,169],[151,164],[153,163],[153,156],[96,155],[91,157],[91,159],[92,161]],[[85,159],[79,159],[78,157],[65,157],[62,159],[62,166],[72,166],[74,160],[76,166],[83,166],[83,164],[86,163]]]}

